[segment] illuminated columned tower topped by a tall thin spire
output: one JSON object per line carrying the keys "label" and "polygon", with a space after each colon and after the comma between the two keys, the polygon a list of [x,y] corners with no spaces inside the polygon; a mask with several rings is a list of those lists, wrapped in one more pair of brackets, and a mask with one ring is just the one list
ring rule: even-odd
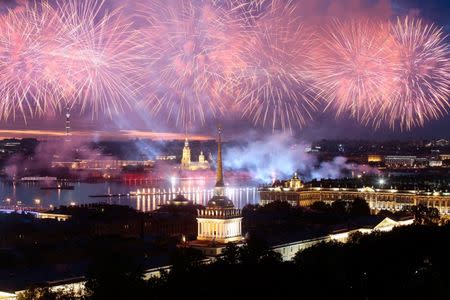
{"label": "illuminated columned tower topped by a tall thin spire", "polygon": [[[214,195],[208,201],[206,209],[198,211],[197,240],[226,244],[229,242],[239,242],[243,239],[241,232],[242,216],[241,210],[235,208],[233,202],[225,195],[222,169],[222,130],[220,127],[218,131],[217,170]],[[218,247],[217,249],[222,248]]]}

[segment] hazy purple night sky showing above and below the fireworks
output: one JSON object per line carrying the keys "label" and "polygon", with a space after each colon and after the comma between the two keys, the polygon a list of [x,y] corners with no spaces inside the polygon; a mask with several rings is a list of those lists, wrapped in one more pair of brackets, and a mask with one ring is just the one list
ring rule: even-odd
{"label": "hazy purple night sky showing above and below the fireworks", "polygon": [[[21,3],[22,1],[17,1]],[[112,2],[112,1],[111,1]],[[307,2],[307,3],[306,3]],[[15,1],[0,1],[2,10],[5,6],[14,7]],[[313,3],[315,12],[318,14],[341,15],[342,9],[348,14],[348,7],[357,7],[354,12],[372,14],[390,14],[391,17],[397,15],[420,16],[425,20],[443,26],[447,33],[450,33],[450,1],[446,0],[360,0],[360,1],[305,1],[305,7],[310,7]],[[317,8],[319,9],[317,10]],[[376,10],[378,9],[378,10]],[[310,12],[310,11],[309,11]],[[111,117],[98,115],[92,116],[89,111],[84,113],[74,112],[72,117],[72,128],[77,131],[117,131],[117,130],[143,130],[162,132],[184,132],[182,126],[177,126],[173,121],[165,121],[164,118],[155,118],[147,113],[145,109],[129,108],[123,113]],[[161,120],[163,119],[163,120]],[[245,131],[256,132],[258,134],[270,134],[272,129],[255,126],[244,119],[231,118],[227,115],[218,118],[210,117],[206,124],[191,124],[190,131],[199,134],[210,134],[214,132],[215,123],[220,122],[226,128],[229,137],[240,137],[245,135]],[[63,130],[63,113],[51,113],[43,117],[28,117],[25,121],[20,115],[15,120],[1,121],[2,130]],[[392,131],[389,128],[374,130],[365,127],[354,120],[349,120],[345,116],[336,118],[330,112],[314,113],[314,120],[308,121],[305,128],[295,131],[295,136],[305,139],[321,138],[357,138],[357,139],[406,139],[406,138],[439,138],[450,137],[450,116],[437,121],[428,122],[423,128],[415,128],[411,131]],[[6,136],[4,134],[3,136]],[[12,133],[14,135],[14,133]]]}

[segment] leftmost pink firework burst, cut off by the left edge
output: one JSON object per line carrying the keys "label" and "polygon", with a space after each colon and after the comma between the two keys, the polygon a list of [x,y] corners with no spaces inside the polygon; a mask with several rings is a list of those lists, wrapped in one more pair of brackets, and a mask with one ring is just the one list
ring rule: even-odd
{"label": "leftmost pink firework burst, cut off by the left edge", "polygon": [[48,53],[53,39],[46,35],[60,28],[54,13],[46,3],[28,4],[3,16],[0,23],[0,118],[16,111],[42,113],[58,97],[58,74],[51,70],[54,61]]}

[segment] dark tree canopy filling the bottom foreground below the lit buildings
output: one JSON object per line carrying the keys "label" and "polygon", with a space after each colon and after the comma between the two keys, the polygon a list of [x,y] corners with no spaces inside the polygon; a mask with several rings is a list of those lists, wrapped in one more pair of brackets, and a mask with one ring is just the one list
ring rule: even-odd
{"label": "dark tree canopy filling the bottom foreground below the lit buildings", "polygon": [[[242,247],[227,246],[210,264],[195,250],[179,248],[172,271],[150,280],[138,263],[109,249],[90,268],[85,298],[446,299],[449,239],[448,224],[413,225],[318,244],[283,262],[264,241],[250,238]],[[71,299],[52,297],[22,299]]]}

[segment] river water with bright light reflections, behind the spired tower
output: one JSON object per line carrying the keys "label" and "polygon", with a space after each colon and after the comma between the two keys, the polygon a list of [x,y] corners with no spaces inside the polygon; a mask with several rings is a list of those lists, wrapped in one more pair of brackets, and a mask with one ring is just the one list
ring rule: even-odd
{"label": "river water with bright light reflections, behind the spired tower", "polygon": [[[61,205],[88,204],[106,202],[110,204],[128,205],[141,211],[152,211],[159,205],[167,203],[182,194],[196,204],[205,205],[212,197],[212,187],[203,183],[160,184],[152,187],[130,185],[119,182],[76,183],[74,190],[41,190],[39,184],[0,182],[0,207],[23,206],[27,208],[51,208]],[[145,195],[126,196],[130,192],[140,190]],[[93,198],[91,195],[121,194],[116,198]],[[256,187],[227,187],[227,196],[238,208],[246,204],[259,203]],[[35,199],[39,199],[37,205]]]}

